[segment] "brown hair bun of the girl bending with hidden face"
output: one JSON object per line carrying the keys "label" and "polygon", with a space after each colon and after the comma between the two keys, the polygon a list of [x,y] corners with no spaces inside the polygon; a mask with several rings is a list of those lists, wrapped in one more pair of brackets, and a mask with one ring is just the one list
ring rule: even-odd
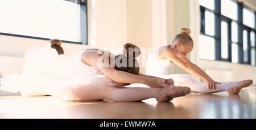
{"label": "brown hair bun of the girl bending with hidden face", "polygon": [[[129,54],[129,48],[131,49],[133,49],[133,50],[130,50],[130,51],[132,51],[133,52],[133,54]],[[138,46],[135,46],[135,45],[133,45],[133,44],[125,44],[124,46],[123,46],[123,54],[124,55],[126,55],[126,57],[128,57],[128,58],[133,58],[133,59],[135,59],[136,57],[138,57],[139,56],[139,54],[141,54],[141,49],[139,49],[139,47]]]}

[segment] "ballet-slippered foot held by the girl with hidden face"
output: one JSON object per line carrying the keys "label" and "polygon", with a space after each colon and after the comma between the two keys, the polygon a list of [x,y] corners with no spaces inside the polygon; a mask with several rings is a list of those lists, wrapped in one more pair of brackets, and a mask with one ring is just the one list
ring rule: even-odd
{"label": "ballet-slippered foot held by the girl with hidden face", "polygon": [[175,97],[185,96],[190,93],[190,88],[187,86],[164,86],[160,90],[160,96],[156,98],[158,102],[170,102]]}

